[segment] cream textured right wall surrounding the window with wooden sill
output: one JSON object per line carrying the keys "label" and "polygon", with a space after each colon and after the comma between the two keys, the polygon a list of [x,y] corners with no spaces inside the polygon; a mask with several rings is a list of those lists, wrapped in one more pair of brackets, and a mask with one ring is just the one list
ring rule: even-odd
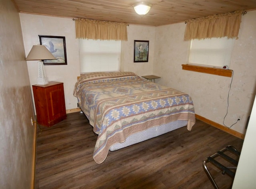
{"label": "cream textured right wall surrounding the window with wooden sill", "polygon": [[183,41],[186,24],[157,27],[153,64],[154,75],[161,77],[157,82],[190,94],[196,114],[218,124],[223,125],[228,107],[224,124],[230,127],[240,116],[232,129],[244,134],[256,93],[255,18],[256,11],[242,16],[230,64],[234,70],[233,81],[230,77],[182,70],[181,65],[188,63],[189,55],[189,42]]}

